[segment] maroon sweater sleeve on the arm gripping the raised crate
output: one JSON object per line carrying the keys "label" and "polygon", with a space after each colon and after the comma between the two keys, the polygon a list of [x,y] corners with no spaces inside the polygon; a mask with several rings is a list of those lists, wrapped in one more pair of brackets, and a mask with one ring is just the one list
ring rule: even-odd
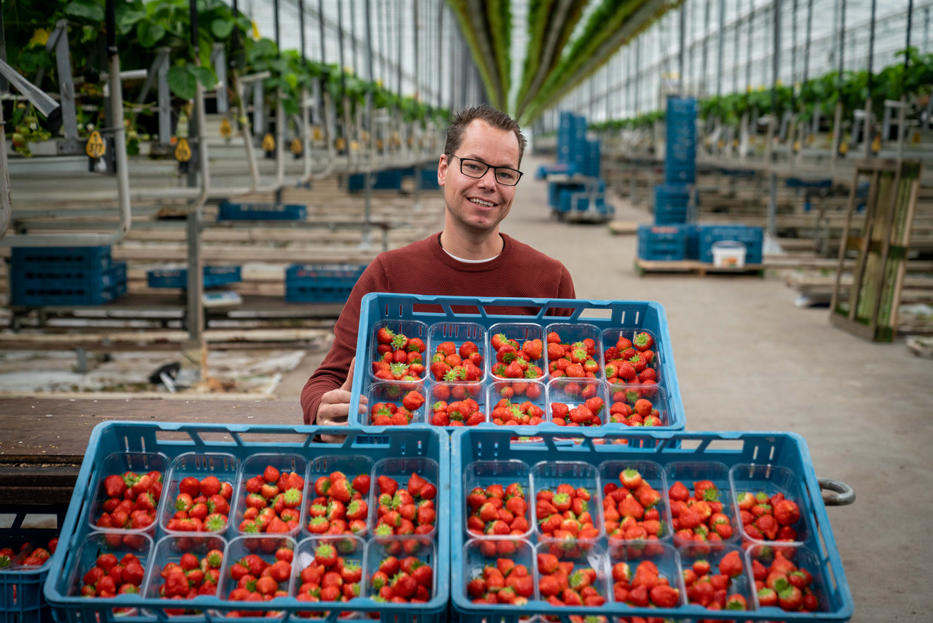
{"label": "maroon sweater sleeve on the arm gripping the raised crate", "polygon": [[[350,361],[356,354],[356,335],[359,329],[359,310],[363,296],[369,292],[389,291],[389,284],[385,278],[382,262],[377,258],[369,263],[363,275],[356,281],[350,297],[343,304],[341,316],[334,325],[334,342],[327,352],[327,357],[320,367],[314,371],[304,389],[301,389],[301,411],[304,414],[305,424],[314,424],[317,417],[317,407],[321,404],[321,397],[331,389],[338,389],[343,385],[350,370]],[[365,361],[357,361],[365,365]]]}

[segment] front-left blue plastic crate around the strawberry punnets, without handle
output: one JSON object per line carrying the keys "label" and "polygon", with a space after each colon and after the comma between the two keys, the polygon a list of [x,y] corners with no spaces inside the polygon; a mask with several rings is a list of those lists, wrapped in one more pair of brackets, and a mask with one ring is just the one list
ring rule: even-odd
{"label": "front-left blue plastic crate around the strawberry punnets, without handle", "polygon": [[[346,435],[346,439],[340,444],[313,443],[315,435],[322,433]],[[190,452],[222,452],[240,460],[241,465],[249,457],[260,454],[298,454],[308,459],[312,465],[314,461],[324,457],[341,458],[359,455],[369,457],[373,461],[383,459],[433,460],[439,466],[438,497],[435,502],[437,508],[450,508],[451,503],[451,487],[448,481],[450,475],[449,437],[445,432],[434,431],[426,427],[390,430],[172,422],[104,422],[91,432],[88,449],[77,476],[75,492],[63,523],[62,545],[47,563],[49,577],[44,585],[45,594],[52,613],[59,623],[88,623],[88,621],[95,620],[100,623],[112,623],[125,620],[126,616],[113,614],[114,607],[140,608],[137,614],[130,616],[130,619],[134,621],[167,620],[163,613],[157,615],[151,609],[155,608],[158,611],[160,608],[167,607],[170,602],[146,599],[136,595],[121,595],[113,599],[87,599],[74,595],[69,590],[73,573],[76,567],[81,567],[81,559],[86,553],[80,545],[85,543],[91,535],[100,534],[91,531],[88,523],[91,496],[89,491],[94,490],[100,478],[105,475],[102,471],[104,459],[113,453],[138,453],[144,449],[150,453],[158,452],[170,460]],[[309,468],[309,471],[304,474],[308,476],[310,473]],[[310,478],[305,478],[306,491],[313,487],[313,483],[309,480]],[[373,486],[375,486],[375,479],[373,479]],[[307,494],[305,497],[307,498]],[[301,534],[303,532],[299,533]],[[437,531],[433,540],[436,550],[433,555],[434,575],[438,581],[430,602],[424,604],[383,603],[376,602],[367,595],[354,600],[352,608],[349,609],[363,613],[375,613],[378,615],[377,620],[386,623],[411,621],[414,618],[425,623],[440,623],[445,620],[444,615],[450,596],[450,587],[444,581],[450,577],[450,534],[450,516],[448,513],[439,512]],[[158,541],[161,532],[156,531],[155,536]],[[154,559],[152,542],[147,543],[149,545],[144,556]],[[376,542],[370,540],[366,545],[367,549],[378,545],[373,544]],[[91,553],[94,551],[92,549]],[[363,571],[364,574],[368,572],[366,568]],[[207,596],[201,596],[193,602],[185,600],[171,602],[171,606],[211,610],[221,614],[231,610],[250,609],[244,605],[244,602],[226,602]],[[258,604],[258,608],[263,608],[263,605]],[[287,616],[287,614],[307,611],[309,608],[307,602],[283,598],[276,602],[275,609],[285,611]],[[341,610],[345,609],[348,608],[341,607]],[[334,617],[336,615],[336,612],[333,613]]]}

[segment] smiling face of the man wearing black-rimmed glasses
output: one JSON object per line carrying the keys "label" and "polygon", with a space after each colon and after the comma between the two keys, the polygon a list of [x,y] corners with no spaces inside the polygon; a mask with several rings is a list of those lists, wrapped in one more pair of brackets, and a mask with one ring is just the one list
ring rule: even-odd
{"label": "smiling face of the man wearing black-rimmed glasses", "polygon": [[513,132],[494,128],[483,120],[473,120],[464,131],[460,148],[453,156],[441,156],[438,182],[444,187],[447,224],[465,234],[493,234],[508,216],[516,186],[495,181],[489,169],[479,179],[461,173],[461,158],[479,160],[490,166],[519,168],[519,141]]}

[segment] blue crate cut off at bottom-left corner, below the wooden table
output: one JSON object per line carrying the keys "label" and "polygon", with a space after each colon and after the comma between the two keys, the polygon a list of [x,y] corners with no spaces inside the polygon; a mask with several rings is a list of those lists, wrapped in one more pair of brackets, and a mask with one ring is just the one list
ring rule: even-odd
{"label": "blue crate cut off at bottom-left corner, below the wooden table", "polygon": [[[36,547],[48,549],[49,541],[58,536],[67,511],[67,504],[0,504],[0,514],[14,516],[9,528],[0,529],[0,547],[10,547],[18,553],[21,545],[27,544],[28,551]],[[23,523],[28,525],[35,515],[55,516],[56,528],[23,528]],[[0,623],[50,623],[51,610],[42,594],[49,561],[41,567],[27,567],[19,562],[18,556],[14,564],[0,569]]]}

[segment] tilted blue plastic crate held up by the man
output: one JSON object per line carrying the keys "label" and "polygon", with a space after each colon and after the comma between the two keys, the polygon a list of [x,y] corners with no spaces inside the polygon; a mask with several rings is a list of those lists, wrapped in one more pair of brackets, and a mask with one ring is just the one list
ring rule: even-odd
{"label": "tilted blue plastic crate held up by the man", "polygon": [[[569,310],[570,316],[556,316],[555,310],[560,309]],[[584,314],[588,310],[601,313],[603,317],[595,318]],[[480,298],[373,292],[364,296],[360,305],[356,352],[370,356],[375,351],[375,330],[382,324],[388,325],[393,331],[401,330],[409,337],[425,339],[427,328],[441,321],[479,324],[487,329],[487,336],[490,327],[498,323],[516,323],[535,332],[543,332],[545,327],[554,322],[587,323],[600,331],[606,329],[648,331],[655,336],[654,351],[658,354],[661,364],[658,384],[667,394],[671,412],[671,423],[664,428],[683,430],[686,425],[667,318],[660,304],[649,301]],[[410,333],[419,331],[419,327],[423,334]],[[522,333],[527,335],[526,332]],[[511,334],[509,337],[519,339]],[[533,339],[533,336],[527,339]],[[491,347],[487,347],[486,352],[491,353]],[[487,383],[493,380],[489,375],[486,378]],[[366,365],[361,364],[355,367],[350,399],[351,425],[359,423],[359,416],[355,415],[358,411],[359,397],[365,394],[365,390],[374,380],[369,361]],[[432,383],[428,382],[425,390],[430,391],[431,387]],[[547,426],[555,425],[548,424]],[[606,427],[624,427],[624,424],[607,424],[603,428],[606,429]]]}

